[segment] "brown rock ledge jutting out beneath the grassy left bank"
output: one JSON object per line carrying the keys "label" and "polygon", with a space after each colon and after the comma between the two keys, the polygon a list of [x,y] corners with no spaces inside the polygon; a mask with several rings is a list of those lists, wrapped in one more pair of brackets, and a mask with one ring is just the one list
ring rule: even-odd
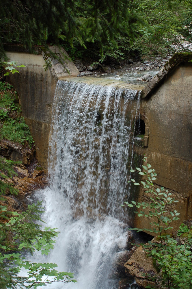
{"label": "brown rock ledge jutting out beneath the grassy left bank", "polygon": [[21,161],[23,168],[25,168],[25,165],[29,165],[35,156],[35,147],[33,145],[31,148],[29,148],[29,146],[24,146],[10,140],[1,140],[0,147],[1,155],[6,158],[11,158],[16,162]]}

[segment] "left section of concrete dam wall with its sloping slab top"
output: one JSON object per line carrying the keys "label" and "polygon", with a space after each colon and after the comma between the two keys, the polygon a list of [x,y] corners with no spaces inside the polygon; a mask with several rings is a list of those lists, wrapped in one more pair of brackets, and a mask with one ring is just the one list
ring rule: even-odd
{"label": "left section of concrete dam wall with its sloping slab top", "polygon": [[[6,53],[10,61],[25,65],[18,68],[19,73],[10,74],[7,80],[18,92],[22,115],[36,144],[36,158],[44,168],[47,168],[48,140],[57,80],[79,74],[64,49],[49,48],[58,57],[64,56],[62,63],[52,59],[49,52],[46,53],[40,48],[37,49],[37,54],[31,54],[22,47],[13,45],[8,47]],[[50,61],[51,65],[45,71],[47,61]]]}

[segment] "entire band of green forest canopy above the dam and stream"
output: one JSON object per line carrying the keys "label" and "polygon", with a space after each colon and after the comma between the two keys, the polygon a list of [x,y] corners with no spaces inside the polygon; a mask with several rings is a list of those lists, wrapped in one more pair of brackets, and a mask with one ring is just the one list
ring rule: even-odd
{"label": "entire band of green forest canopy above the dam and stream", "polygon": [[191,41],[191,0],[1,0],[0,58],[7,44],[62,45],[74,57],[125,59],[172,53]]}

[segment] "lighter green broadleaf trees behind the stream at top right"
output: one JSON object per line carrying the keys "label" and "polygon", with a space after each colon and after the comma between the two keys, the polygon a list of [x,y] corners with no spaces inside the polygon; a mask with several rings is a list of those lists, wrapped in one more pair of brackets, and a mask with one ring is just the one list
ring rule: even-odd
{"label": "lighter green broadleaf trees behind the stream at top right", "polygon": [[117,45],[111,42],[111,49],[103,47],[100,54],[99,43],[86,42],[85,50],[78,42],[73,42],[73,49],[67,44],[65,49],[72,59],[93,58],[98,62],[105,60],[126,61],[128,58],[140,56],[149,59],[156,55],[173,55],[176,47],[186,51],[182,45],[183,40],[191,42],[191,1],[185,0],[135,0],[131,2],[131,11],[134,11],[148,25],[135,24],[134,37],[121,32],[115,35]]}

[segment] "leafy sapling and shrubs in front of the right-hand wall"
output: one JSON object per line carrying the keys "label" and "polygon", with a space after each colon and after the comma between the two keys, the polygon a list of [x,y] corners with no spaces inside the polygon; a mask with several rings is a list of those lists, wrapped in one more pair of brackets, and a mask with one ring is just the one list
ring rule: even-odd
{"label": "leafy sapling and shrubs in front of the right-hand wall", "polygon": [[[185,288],[192,287],[192,228],[189,229],[185,225],[181,225],[178,230],[178,236],[183,240],[181,244],[171,236],[170,232],[173,227],[171,223],[179,219],[179,213],[176,210],[170,211],[169,205],[177,202],[172,198],[172,194],[165,190],[163,187],[155,188],[153,180],[156,179],[156,173],[151,165],[148,164],[147,158],[143,159],[145,164],[136,170],[131,169],[132,173],[138,173],[144,177],[140,184],[145,189],[145,193],[150,199],[150,203],[146,202],[125,202],[128,207],[135,206],[139,211],[135,213],[138,217],[146,217],[151,220],[151,229],[138,229],[133,230],[146,231],[155,234],[157,237],[143,245],[145,251],[154,262],[159,270],[159,284],[161,288]],[[140,184],[131,179],[135,186]],[[150,276],[148,276],[151,278]],[[154,281],[156,281],[154,279]],[[146,288],[152,288],[147,286]]]}

